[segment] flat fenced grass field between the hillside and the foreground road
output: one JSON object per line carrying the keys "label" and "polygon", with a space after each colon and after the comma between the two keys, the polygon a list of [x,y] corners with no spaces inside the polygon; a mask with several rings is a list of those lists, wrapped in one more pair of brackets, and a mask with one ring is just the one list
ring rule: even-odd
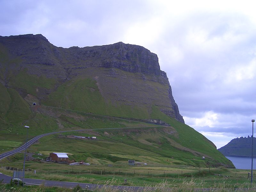
{"label": "flat fenced grass field between the hillside and the foreground road", "polygon": [[[158,186],[165,182],[166,186],[184,189],[184,183],[191,188],[219,188],[222,191],[236,188],[250,188],[248,170],[236,170],[227,168],[195,168],[195,167],[129,167],[129,166],[70,166],[54,165],[44,166],[36,162],[34,164],[36,174],[32,171],[26,172],[27,178],[72,181],[83,183],[104,184],[106,181],[114,180],[114,185],[129,186]],[[36,166],[36,164],[38,164]],[[12,175],[12,171],[1,172]],[[124,183],[124,179],[127,180]],[[256,179],[256,178],[255,178]],[[253,185],[255,186],[255,185]],[[187,188],[188,189],[188,188]],[[184,190],[186,191],[186,190]]]}

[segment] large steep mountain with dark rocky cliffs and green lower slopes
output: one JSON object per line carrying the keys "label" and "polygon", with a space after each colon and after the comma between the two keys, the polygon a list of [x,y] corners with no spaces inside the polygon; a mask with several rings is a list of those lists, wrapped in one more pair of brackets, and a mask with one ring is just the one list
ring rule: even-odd
{"label": "large steep mountain with dark rocky cliffs and green lower slopes", "polygon": [[[174,164],[234,167],[210,140],[184,123],[157,55],[142,46],[119,42],[62,48],[40,34],[0,36],[0,96],[0,141],[23,142],[24,125],[33,127],[29,137],[53,130],[127,128],[93,134],[113,146],[148,151],[147,160],[154,163],[170,164],[170,158]],[[52,144],[55,140],[63,145]],[[68,146],[63,138],[51,141],[30,150],[43,150],[48,143],[52,150],[59,146],[56,151]],[[100,155],[95,149],[86,155],[72,149],[73,158],[100,162],[127,156],[127,150],[110,152],[107,146],[103,144]],[[140,153],[131,155],[141,158]]]}

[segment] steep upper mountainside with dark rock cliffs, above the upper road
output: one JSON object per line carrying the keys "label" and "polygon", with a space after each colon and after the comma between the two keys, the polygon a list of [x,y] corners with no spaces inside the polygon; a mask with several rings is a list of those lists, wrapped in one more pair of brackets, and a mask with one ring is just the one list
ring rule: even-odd
{"label": "steep upper mountainside with dark rock cliffs, above the upper road", "polygon": [[[1,70],[2,84],[15,88],[23,96],[32,94],[45,105],[123,117],[140,114],[140,118],[151,118],[156,107],[184,123],[166,73],[160,70],[157,55],[144,47],[119,42],[62,48],[50,44],[40,34],[28,34],[0,36],[0,51],[5,55],[0,63],[4,69]],[[42,78],[45,84],[33,84],[28,88],[28,84],[22,83],[24,74],[31,79]],[[92,80],[90,85],[86,79]],[[88,94],[85,90],[88,86],[92,95],[99,93],[100,101],[88,98],[92,96],[89,94],[74,102],[77,92]],[[90,107],[83,100],[95,104]],[[130,112],[124,113],[122,108]]]}

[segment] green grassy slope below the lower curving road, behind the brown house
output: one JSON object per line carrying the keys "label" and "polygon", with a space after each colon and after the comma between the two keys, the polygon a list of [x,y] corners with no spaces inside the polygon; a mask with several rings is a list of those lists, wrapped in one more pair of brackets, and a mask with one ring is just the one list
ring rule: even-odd
{"label": "green grassy slope below the lower curving road, behind the brown house", "polygon": [[[213,154],[214,149],[206,146],[206,159],[200,152],[180,150],[173,147],[169,139],[172,127],[145,127],[94,130],[85,132],[67,132],[47,136],[40,143],[30,147],[30,152],[47,155],[50,151],[70,153],[70,158],[92,164],[124,164],[128,159],[147,164],[192,165],[195,167],[213,167],[229,164],[221,154]],[[63,135],[97,136],[97,140],[76,140]],[[200,141],[198,141],[200,142]],[[201,142],[203,144],[204,142]],[[211,157],[214,156],[214,159]],[[209,157],[208,157],[209,156]]]}

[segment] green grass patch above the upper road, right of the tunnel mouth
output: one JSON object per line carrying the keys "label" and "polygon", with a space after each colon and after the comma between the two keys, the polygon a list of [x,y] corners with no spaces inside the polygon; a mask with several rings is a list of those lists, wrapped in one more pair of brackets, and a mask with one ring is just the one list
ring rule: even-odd
{"label": "green grass patch above the upper road, right of the tunnel mouth", "polygon": [[74,78],[60,85],[42,102],[46,106],[74,109],[95,114],[148,118],[147,107],[137,107],[106,100],[100,93],[97,81],[90,78]]}

